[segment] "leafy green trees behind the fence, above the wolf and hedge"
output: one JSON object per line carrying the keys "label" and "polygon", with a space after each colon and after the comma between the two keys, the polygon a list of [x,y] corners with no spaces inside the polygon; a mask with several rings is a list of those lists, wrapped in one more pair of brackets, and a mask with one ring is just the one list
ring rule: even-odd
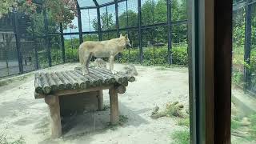
{"label": "leafy green trees behind the fence, above the wolf and hedge", "polygon": [[[128,24],[126,15],[128,15]],[[101,15],[102,30],[114,30],[114,16],[112,14],[103,13]],[[128,10],[127,14],[124,11],[119,15],[119,27],[138,26],[138,13],[134,10]],[[172,21],[186,19],[186,0],[172,1]],[[151,1],[147,0],[142,5],[142,25],[151,25],[154,23],[167,22],[167,7],[166,0]],[[94,30],[98,30],[98,19],[93,20]],[[142,30],[142,46],[146,46],[147,42],[166,43],[167,40],[167,26],[159,26],[153,30]],[[181,43],[186,42],[186,25],[172,26],[172,42]],[[107,35],[107,36],[106,36]],[[154,35],[154,36],[153,36]],[[116,38],[116,33],[108,32],[102,34],[102,39]],[[130,30],[129,38],[132,46],[138,46],[138,30]]]}

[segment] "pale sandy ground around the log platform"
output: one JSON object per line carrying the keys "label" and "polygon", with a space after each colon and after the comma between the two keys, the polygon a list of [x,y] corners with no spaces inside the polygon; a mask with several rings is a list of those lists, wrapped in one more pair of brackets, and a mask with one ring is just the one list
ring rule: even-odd
{"label": "pale sandy ground around the log platform", "polygon": [[[54,66],[40,71],[74,70],[77,63]],[[115,69],[121,70],[121,64]],[[158,66],[136,66],[136,82],[129,83],[125,94],[119,94],[119,112],[128,121],[114,129],[107,126],[110,110],[78,115],[70,119],[70,129],[62,138],[50,139],[48,107],[43,99],[34,99],[34,75],[0,86],[0,130],[7,137],[22,136],[26,143],[170,143],[170,134],[181,127],[175,118],[151,119],[154,106],[179,101],[188,107],[187,68],[162,69]],[[104,90],[104,104],[109,103]]]}

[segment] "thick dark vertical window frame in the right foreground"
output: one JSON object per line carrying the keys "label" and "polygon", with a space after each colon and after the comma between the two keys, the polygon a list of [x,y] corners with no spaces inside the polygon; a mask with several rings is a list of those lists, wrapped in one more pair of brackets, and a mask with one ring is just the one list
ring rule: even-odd
{"label": "thick dark vertical window frame in the right foreground", "polygon": [[190,0],[190,143],[230,143],[232,0]]}

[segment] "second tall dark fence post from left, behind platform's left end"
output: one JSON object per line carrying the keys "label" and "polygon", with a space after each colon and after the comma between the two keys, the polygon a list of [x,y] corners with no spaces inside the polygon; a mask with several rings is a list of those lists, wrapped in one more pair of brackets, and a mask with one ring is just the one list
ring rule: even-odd
{"label": "second tall dark fence post from left, behind platform's left end", "polygon": [[48,64],[51,67],[51,56],[50,56],[50,41],[48,35],[48,19],[46,14],[46,8],[43,9],[43,17],[44,17],[44,27],[45,27],[45,38],[46,38],[46,46],[47,46],[47,57],[48,57]]}

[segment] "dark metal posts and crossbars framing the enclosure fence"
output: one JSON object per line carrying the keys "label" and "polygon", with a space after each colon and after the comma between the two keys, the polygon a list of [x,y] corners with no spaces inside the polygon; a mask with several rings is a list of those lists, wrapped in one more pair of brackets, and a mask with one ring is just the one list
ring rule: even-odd
{"label": "dark metal posts and crossbars framing the enclosure fence", "polygon": [[[139,61],[142,63],[143,62],[143,49],[142,49],[142,30],[154,30],[158,26],[166,26],[168,29],[168,63],[172,64],[172,26],[175,25],[181,25],[181,24],[186,24],[186,20],[181,20],[181,21],[176,21],[172,22],[171,21],[171,1],[167,0],[167,22],[159,22],[159,23],[153,23],[151,25],[142,25],[142,12],[141,12],[141,0],[137,0],[138,2],[138,26],[128,26],[128,15],[126,18],[126,27],[120,28],[119,27],[119,20],[118,20],[118,2],[126,2],[126,11],[128,7],[128,0],[113,0],[113,2],[108,2],[102,5],[99,5],[97,0],[94,0],[95,6],[79,6],[77,3],[78,7],[78,32],[72,32],[72,33],[63,33],[63,28],[62,24],[60,24],[60,33],[50,33],[48,30],[48,18],[46,15],[46,10],[43,10],[44,13],[44,23],[45,23],[45,35],[42,37],[37,37],[37,38],[45,38],[46,40],[46,54],[47,54],[47,60],[48,60],[48,65],[51,66],[51,56],[50,56],[50,36],[54,34],[59,34],[61,35],[61,45],[62,45],[62,59],[63,62],[66,62],[65,58],[65,46],[64,46],[64,36],[65,35],[79,35],[79,42],[82,43],[83,39],[82,36],[85,34],[98,34],[98,39],[101,41],[102,40],[102,33],[111,33],[111,32],[116,32],[117,37],[118,34],[121,30],[126,30],[128,33],[130,30],[138,30],[138,47],[139,47]],[[240,1],[238,3],[233,4],[233,9],[234,10],[239,10],[241,8],[246,7],[246,38],[245,38],[245,54],[244,54],[244,60],[247,64],[250,65],[250,49],[251,49],[251,17],[252,17],[252,12],[251,12],[251,7],[256,2],[256,0],[246,0],[245,1]],[[42,4],[42,3],[40,3]],[[115,6],[115,19],[116,19],[116,28],[113,30],[102,30],[101,28],[101,15],[100,15],[100,8],[104,6]],[[89,10],[89,9],[97,9],[97,18],[98,18],[98,30],[97,31],[82,31],[82,20],[81,20],[81,10]],[[15,22],[15,15],[16,12],[14,12],[14,34],[16,38],[16,46],[17,46],[17,54],[18,54],[18,64],[19,64],[19,72],[22,74],[23,73],[23,66],[22,66],[22,53],[20,51],[21,49],[21,43],[20,43],[20,37],[21,34],[19,34],[18,31],[18,22],[16,18]],[[17,17],[17,15],[16,15]],[[155,33],[154,33],[155,34]],[[129,49],[130,50],[130,49]],[[37,50],[35,50],[35,58],[36,58],[36,64],[35,67],[36,69],[40,66],[38,66],[38,55],[37,55]],[[244,86],[245,90],[248,90],[251,88],[251,83],[250,83],[250,70],[248,68],[244,68],[244,82],[246,85]]]}

